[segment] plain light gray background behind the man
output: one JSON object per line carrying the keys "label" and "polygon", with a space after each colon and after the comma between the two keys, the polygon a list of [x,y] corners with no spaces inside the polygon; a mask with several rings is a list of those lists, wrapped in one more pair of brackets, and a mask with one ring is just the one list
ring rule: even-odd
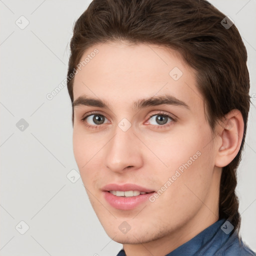
{"label": "plain light gray background behind the man", "polygon": [[[66,76],[72,25],[89,2],[0,0],[1,256],[103,256],[116,255],[122,247],[104,232],[76,172],[66,86],[53,99],[46,98]],[[210,2],[234,20],[243,37],[255,104],[256,0]],[[21,15],[29,21],[24,29],[20,28],[25,24]],[[28,127],[22,126],[21,118]],[[241,235],[253,250],[255,118],[251,105],[237,186]],[[71,170],[69,177],[74,177],[68,179]],[[29,226],[27,231],[20,221]]]}

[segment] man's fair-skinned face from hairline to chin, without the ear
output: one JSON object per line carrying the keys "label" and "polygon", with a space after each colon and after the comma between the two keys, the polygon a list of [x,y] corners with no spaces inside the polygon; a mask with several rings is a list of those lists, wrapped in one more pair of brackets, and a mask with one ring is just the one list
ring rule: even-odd
{"label": "man's fair-skinned face from hairline to chin, without the ear", "polygon": [[106,233],[142,243],[216,218],[214,136],[194,70],[152,44],[88,54],[73,83],[73,152]]}

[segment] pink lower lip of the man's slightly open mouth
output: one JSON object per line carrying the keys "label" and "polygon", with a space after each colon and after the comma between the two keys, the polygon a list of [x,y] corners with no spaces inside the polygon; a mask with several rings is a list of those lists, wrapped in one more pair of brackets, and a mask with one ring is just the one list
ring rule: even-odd
{"label": "pink lower lip of the man's slightly open mouth", "polygon": [[116,209],[121,209],[121,210],[130,210],[130,209],[134,209],[139,204],[148,200],[148,197],[150,197],[154,192],[139,194],[135,196],[127,196],[127,197],[116,196],[114,194],[111,194],[108,191],[103,191],[103,193],[104,193],[104,198],[112,207]]}

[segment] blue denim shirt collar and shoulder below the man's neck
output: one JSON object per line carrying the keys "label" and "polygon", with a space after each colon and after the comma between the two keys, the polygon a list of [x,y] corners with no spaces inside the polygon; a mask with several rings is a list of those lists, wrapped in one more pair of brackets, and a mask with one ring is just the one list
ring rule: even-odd
{"label": "blue denim shirt collar and shoulder below the man's neck", "polygon": [[[237,231],[231,231],[230,222],[220,219],[165,256],[255,256],[241,239],[239,244]],[[116,256],[126,254],[121,249]]]}

